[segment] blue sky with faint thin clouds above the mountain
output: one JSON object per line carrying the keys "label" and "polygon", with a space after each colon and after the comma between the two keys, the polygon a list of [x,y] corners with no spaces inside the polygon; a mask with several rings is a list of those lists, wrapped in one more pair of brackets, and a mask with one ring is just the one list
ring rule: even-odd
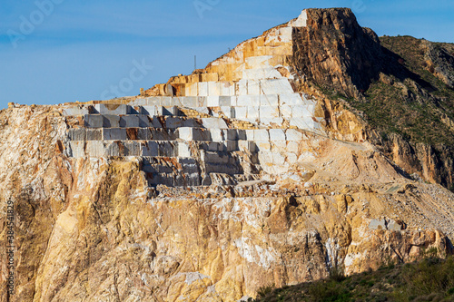
{"label": "blue sky with faint thin clouds above the mountain", "polygon": [[[454,43],[451,0],[2,0],[0,108],[138,94],[309,7],[350,7],[377,34]],[[142,66],[137,67],[137,66]]]}

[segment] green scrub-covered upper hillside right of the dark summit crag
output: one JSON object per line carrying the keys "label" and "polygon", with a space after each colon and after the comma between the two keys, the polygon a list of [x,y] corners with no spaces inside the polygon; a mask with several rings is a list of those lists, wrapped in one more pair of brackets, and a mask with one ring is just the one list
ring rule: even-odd
{"label": "green scrub-covered upper hillside right of the dark summit crag", "polygon": [[[364,92],[366,101],[347,102],[364,112],[366,120],[380,132],[454,148],[453,129],[441,121],[444,114],[454,120],[454,90],[430,71],[421,41],[408,35],[381,37],[380,43],[389,51],[384,73],[391,83],[371,83]],[[449,45],[442,46],[448,49]]]}

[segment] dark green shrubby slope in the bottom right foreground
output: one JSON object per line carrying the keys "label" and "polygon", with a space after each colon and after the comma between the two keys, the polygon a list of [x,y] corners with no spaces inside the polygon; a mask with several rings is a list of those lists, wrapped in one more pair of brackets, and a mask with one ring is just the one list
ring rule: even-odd
{"label": "dark green shrubby slope in the bottom right foreground", "polygon": [[388,262],[373,272],[276,288],[253,301],[454,301],[454,258],[436,254],[429,249],[419,262]]}

